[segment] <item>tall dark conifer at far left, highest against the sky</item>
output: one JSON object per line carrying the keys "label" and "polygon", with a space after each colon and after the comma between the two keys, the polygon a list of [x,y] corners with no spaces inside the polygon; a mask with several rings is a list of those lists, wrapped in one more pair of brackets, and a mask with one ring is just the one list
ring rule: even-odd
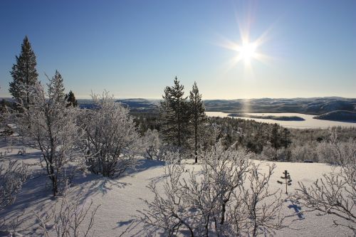
{"label": "tall dark conifer at far left, highest against the sky", "polygon": [[16,64],[12,66],[10,72],[14,80],[10,83],[9,93],[16,102],[28,105],[30,101],[28,86],[35,85],[38,80],[36,65],[35,53],[33,53],[30,41],[25,36],[21,45],[21,54],[16,56]]}

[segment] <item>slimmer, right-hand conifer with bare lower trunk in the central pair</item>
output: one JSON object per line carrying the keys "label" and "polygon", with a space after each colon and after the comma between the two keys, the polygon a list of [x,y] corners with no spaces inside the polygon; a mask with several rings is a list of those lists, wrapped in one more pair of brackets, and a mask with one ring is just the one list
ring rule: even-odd
{"label": "slimmer, right-hand conifer with bare lower trunk in the central pair", "polygon": [[189,95],[189,108],[192,117],[192,127],[194,133],[194,157],[195,163],[198,162],[198,144],[201,135],[201,127],[206,121],[205,107],[203,100],[201,100],[201,95],[199,94],[199,89],[197,83],[194,82],[193,88]]}

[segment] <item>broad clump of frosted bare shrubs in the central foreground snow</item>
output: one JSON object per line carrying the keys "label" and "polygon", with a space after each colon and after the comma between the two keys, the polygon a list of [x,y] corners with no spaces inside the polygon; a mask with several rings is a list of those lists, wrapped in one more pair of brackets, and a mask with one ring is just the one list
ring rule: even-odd
{"label": "broad clump of frosted bare shrubs in the central foreground snow", "polygon": [[165,236],[257,236],[282,228],[281,193],[268,191],[274,166],[261,174],[249,160],[252,155],[216,144],[200,152],[199,172],[167,165],[163,184],[150,184],[155,198],[145,201],[147,209],[139,211],[138,221],[149,235]]}

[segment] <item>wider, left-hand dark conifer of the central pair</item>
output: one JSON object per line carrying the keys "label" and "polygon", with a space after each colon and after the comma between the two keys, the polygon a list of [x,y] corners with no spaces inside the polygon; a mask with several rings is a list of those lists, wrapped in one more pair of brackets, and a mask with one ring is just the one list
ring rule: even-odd
{"label": "wider, left-hand dark conifer of the central pair", "polygon": [[186,148],[189,137],[189,104],[183,90],[184,86],[174,78],[174,85],[164,89],[160,107],[162,138],[178,148]]}

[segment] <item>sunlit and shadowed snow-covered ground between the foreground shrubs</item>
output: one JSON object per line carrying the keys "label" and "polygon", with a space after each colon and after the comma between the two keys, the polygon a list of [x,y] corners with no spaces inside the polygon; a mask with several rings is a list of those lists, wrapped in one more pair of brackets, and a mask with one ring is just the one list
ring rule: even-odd
{"label": "sunlit and shadowed snow-covered ground between the foreground shrubs", "polygon": [[[4,142],[2,142],[4,144]],[[23,236],[39,236],[38,221],[34,211],[38,214],[48,210],[53,206],[51,197],[51,184],[46,177],[45,170],[39,163],[40,153],[36,150],[27,149],[26,155],[18,155],[20,145],[12,147],[2,146],[0,152],[7,152],[6,157],[1,159],[3,164],[8,159],[19,159],[31,166],[31,176],[26,184],[23,185],[16,201],[11,206],[0,212],[1,218],[8,221],[16,220],[19,217],[19,227],[17,231]],[[270,164],[270,162],[260,162],[261,172]],[[193,161],[187,161],[186,169],[198,171],[199,164],[193,164]],[[277,180],[281,177],[284,170],[290,172],[293,179],[292,186],[289,186],[290,193],[298,187],[298,181],[303,181],[308,186],[316,179],[322,177],[322,174],[333,172],[333,167],[328,164],[307,164],[307,163],[282,163],[276,162],[276,169],[270,181],[271,189],[282,188]],[[94,236],[120,236],[125,229],[130,226],[133,216],[138,215],[137,210],[145,209],[142,199],[151,200],[153,194],[147,188],[152,180],[159,183],[164,178],[164,162],[142,160],[140,169],[132,172],[130,176],[118,179],[108,179],[100,175],[87,174],[75,177],[73,192],[70,199],[82,199],[83,205],[88,205],[93,200],[93,206],[100,205],[95,216],[93,229]],[[45,185],[47,184],[47,185]],[[286,194],[283,194],[286,196]],[[289,216],[286,224],[289,228],[284,228],[276,232],[276,236],[347,236],[351,233],[345,228],[333,227],[333,216],[317,216],[318,213],[307,212],[298,201],[286,199],[283,205],[283,213]],[[147,232],[142,226],[137,225],[122,236],[147,236]],[[163,236],[163,235],[162,235]]]}

